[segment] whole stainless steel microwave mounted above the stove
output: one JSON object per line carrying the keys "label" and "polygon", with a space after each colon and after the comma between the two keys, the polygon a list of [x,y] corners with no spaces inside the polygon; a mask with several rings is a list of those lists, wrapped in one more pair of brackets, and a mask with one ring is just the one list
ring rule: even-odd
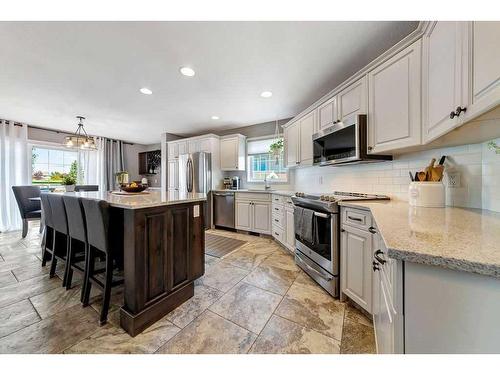
{"label": "whole stainless steel microwave mounted above the stove", "polygon": [[373,163],[392,160],[391,155],[368,154],[366,115],[354,115],[316,133],[313,164],[319,166]]}

